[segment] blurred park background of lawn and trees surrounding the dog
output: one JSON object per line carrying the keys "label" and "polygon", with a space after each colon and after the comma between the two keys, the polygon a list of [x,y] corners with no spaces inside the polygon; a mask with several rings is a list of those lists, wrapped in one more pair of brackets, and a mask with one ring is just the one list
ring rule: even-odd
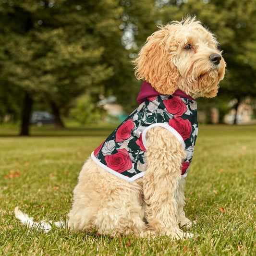
{"label": "blurred park background of lawn and trees surrounding the dog", "polygon": [[[195,238],[23,227],[16,206],[65,220],[83,162],[137,107],[131,61],[157,24],[187,14],[216,34],[227,63],[218,96],[197,99],[185,190]],[[0,254],[255,255],[255,24],[256,0],[0,0]],[[54,123],[30,124],[35,111]]]}

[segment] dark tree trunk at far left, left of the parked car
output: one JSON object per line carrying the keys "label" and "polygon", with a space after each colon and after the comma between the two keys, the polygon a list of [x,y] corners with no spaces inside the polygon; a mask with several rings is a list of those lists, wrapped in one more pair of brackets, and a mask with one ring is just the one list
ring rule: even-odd
{"label": "dark tree trunk at far left, left of the parked car", "polygon": [[30,124],[30,115],[32,111],[33,99],[28,93],[25,93],[23,110],[22,110],[22,123],[21,123],[21,136],[29,135],[29,124]]}

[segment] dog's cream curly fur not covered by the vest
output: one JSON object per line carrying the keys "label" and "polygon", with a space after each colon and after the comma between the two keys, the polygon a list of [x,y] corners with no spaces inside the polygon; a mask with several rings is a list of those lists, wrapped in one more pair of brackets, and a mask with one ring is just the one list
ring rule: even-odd
{"label": "dog's cream curly fur not covered by the vest", "polygon": [[[223,58],[218,64],[209,59],[214,53],[221,56],[213,34],[189,17],[159,28],[147,38],[134,61],[137,78],[164,95],[180,89],[193,98],[214,97],[226,64]],[[188,44],[191,48],[186,49]],[[183,146],[162,127],[149,129],[146,143],[146,174],[134,182],[101,169],[91,158],[85,162],[68,214],[68,226],[73,231],[96,228],[98,233],[112,236],[193,236],[179,227],[179,223],[188,228],[192,224],[183,211]],[[24,217],[18,208],[15,213],[18,219]]]}

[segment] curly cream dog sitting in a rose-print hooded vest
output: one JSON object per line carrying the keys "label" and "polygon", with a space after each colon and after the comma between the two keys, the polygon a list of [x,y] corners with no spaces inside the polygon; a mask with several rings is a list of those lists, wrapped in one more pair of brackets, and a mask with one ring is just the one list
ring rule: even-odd
{"label": "curly cream dog sitting in a rose-print hooded vest", "polygon": [[[195,18],[161,26],[135,63],[139,107],[92,153],[73,191],[74,231],[189,237],[184,177],[197,136],[197,97],[215,97],[225,61]],[[15,209],[16,217],[24,221]]]}

